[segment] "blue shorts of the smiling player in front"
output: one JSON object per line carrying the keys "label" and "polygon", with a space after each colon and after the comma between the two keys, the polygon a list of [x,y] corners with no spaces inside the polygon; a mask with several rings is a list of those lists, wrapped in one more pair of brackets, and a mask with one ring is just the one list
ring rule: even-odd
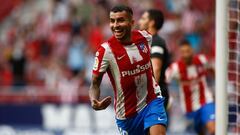
{"label": "blue shorts of the smiling player in front", "polygon": [[164,98],[156,98],[137,115],[125,120],[116,119],[121,135],[145,135],[153,125],[167,126]]}

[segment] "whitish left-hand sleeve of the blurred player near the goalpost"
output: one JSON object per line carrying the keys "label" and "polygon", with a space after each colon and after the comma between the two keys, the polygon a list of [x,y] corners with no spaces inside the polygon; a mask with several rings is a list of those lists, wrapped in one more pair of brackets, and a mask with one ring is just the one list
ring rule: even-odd
{"label": "whitish left-hand sleeve of the blurred player near the goalpost", "polygon": [[179,73],[177,63],[173,63],[167,68],[165,72],[165,76],[166,76],[167,83],[170,83],[173,79],[176,79],[176,80],[180,79],[180,73]]}

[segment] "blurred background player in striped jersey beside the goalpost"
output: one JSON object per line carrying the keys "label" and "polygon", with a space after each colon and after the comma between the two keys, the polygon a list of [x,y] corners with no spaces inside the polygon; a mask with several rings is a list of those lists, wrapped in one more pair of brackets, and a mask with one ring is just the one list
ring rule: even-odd
{"label": "blurred background player in striped jersey beside the goalpost", "polygon": [[191,44],[180,43],[179,61],[166,71],[167,82],[177,79],[180,85],[180,99],[188,119],[194,120],[194,128],[200,134],[204,129],[215,133],[215,104],[206,81],[207,73],[213,71],[205,55],[194,55]]}

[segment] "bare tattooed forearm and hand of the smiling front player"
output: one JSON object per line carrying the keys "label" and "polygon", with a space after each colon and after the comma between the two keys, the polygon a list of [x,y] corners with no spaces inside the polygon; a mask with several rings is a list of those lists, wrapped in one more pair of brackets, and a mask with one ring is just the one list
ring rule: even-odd
{"label": "bare tattooed forearm and hand of the smiling front player", "polygon": [[89,90],[89,98],[91,101],[92,108],[95,110],[106,109],[111,104],[111,97],[108,96],[103,100],[100,98],[100,84],[102,82],[102,77],[104,73],[99,73],[98,75],[93,74],[92,83]]}

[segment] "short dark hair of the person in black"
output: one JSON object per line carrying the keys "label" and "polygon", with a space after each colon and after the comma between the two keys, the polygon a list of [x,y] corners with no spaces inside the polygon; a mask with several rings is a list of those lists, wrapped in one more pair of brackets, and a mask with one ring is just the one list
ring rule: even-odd
{"label": "short dark hair of the person in black", "polygon": [[154,27],[157,30],[161,29],[164,23],[164,16],[162,11],[157,9],[149,9],[147,10],[147,13],[149,15],[149,19],[155,22]]}

